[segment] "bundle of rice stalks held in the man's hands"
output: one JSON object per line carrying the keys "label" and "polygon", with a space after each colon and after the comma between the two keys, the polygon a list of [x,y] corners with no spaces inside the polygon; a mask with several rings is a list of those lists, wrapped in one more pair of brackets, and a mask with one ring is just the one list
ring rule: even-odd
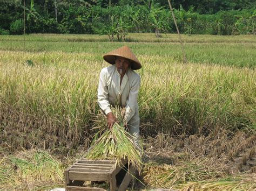
{"label": "bundle of rice stalks held in the man's hands", "polygon": [[[94,143],[84,157],[87,159],[114,159],[118,162],[127,159],[129,164],[137,168],[142,168],[142,153],[134,145],[134,138],[124,129],[125,110],[112,108],[113,114],[117,117],[118,123],[114,123],[113,128],[106,128],[106,117],[97,116],[96,128],[99,132],[96,134]],[[101,135],[99,137],[99,135]]]}

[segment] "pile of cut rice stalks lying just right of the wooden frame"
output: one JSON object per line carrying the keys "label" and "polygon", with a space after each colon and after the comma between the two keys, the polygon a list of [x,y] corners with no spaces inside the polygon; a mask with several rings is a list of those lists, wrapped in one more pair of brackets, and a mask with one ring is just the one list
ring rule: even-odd
{"label": "pile of cut rice stalks lying just right of the wooden frame", "polygon": [[209,180],[221,175],[219,169],[213,170],[205,166],[205,162],[178,161],[176,165],[150,162],[143,168],[143,179],[149,187],[176,188],[187,181]]}

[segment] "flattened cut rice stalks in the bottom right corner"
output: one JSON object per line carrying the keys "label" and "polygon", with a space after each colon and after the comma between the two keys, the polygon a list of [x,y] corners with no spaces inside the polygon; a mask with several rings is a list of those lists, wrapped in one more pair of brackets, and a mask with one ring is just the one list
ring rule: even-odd
{"label": "flattened cut rice stalks in the bottom right corner", "polygon": [[255,190],[256,176],[243,175],[221,180],[188,182],[180,185],[181,190]]}

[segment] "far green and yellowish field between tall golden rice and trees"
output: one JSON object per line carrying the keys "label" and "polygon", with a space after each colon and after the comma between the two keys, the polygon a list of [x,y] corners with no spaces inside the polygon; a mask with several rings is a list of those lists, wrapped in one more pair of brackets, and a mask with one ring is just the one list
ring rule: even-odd
{"label": "far green and yellowish field between tall golden rice and trees", "polygon": [[[128,45],[140,56],[159,56],[154,62],[160,64],[180,62],[182,59],[176,34],[155,38],[153,34],[131,34],[127,43],[109,43],[107,37],[96,35],[31,34],[26,36],[25,50],[29,52],[76,52],[89,53],[101,60],[102,54],[122,45]],[[156,41],[157,40],[157,41]],[[256,38],[254,36],[183,36],[187,61],[254,68],[256,61]],[[0,36],[0,50],[23,51],[22,36]],[[225,51],[223,51],[225,50]],[[163,59],[161,59],[163,57]]]}

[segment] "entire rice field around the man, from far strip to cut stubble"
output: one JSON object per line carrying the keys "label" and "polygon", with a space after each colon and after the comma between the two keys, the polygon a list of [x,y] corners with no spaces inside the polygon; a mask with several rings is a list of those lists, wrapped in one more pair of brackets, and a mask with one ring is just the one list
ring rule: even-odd
{"label": "entire rice field around the man, from far strip to cut stubble", "polygon": [[[256,37],[182,38],[187,63],[176,34],[129,34],[125,43],[30,34],[25,49],[22,36],[0,36],[0,189],[49,181],[43,172],[31,175],[35,157],[20,152],[47,151],[50,161],[66,166],[90,147],[99,72],[108,66],[102,55],[123,45],[143,65],[137,72],[145,164],[138,187],[229,189],[237,182],[237,189],[255,189],[249,180],[256,165]],[[25,173],[34,181],[24,180],[17,161],[30,166]],[[208,168],[215,163],[220,166]],[[63,186],[63,177],[52,175],[48,185]]]}

